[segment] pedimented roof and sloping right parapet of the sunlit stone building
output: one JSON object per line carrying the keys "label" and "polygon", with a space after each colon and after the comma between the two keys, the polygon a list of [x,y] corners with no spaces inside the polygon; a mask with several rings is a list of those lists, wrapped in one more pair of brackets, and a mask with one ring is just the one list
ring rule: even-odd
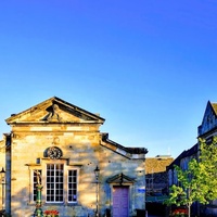
{"label": "pedimented roof and sloping right parapet of the sunlit stone building", "polygon": [[[5,122],[8,125],[11,125],[13,129],[18,130],[21,130],[21,127],[25,129],[26,126],[31,126],[31,130],[37,131],[38,129],[41,130],[40,127],[44,126],[60,127],[62,125],[67,125],[69,127],[80,127],[80,125],[88,125],[88,129],[89,126],[91,126],[94,127],[95,131],[99,131],[99,127],[104,123],[104,118],[97,114],[90,113],[84,108],[78,107],[77,105],[53,97],[37,105],[31,106],[26,111],[12,115]],[[101,145],[130,159],[144,159],[145,154],[148,153],[145,148],[123,146],[110,140],[108,133],[101,133]]]}

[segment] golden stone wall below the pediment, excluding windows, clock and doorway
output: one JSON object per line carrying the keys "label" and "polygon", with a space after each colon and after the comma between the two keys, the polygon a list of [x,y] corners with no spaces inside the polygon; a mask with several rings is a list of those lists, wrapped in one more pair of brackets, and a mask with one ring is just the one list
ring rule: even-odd
{"label": "golden stone wall below the pediment, excluding windows, clock and doorway", "polygon": [[[144,194],[139,189],[144,187],[144,162],[143,159],[129,159],[120,154],[115,153],[100,145],[100,135],[98,132],[84,133],[73,132],[64,133],[48,131],[27,132],[18,128],[13,129],[12,138],[12,181],[11,181],[11,207],[12,216],[29,216],[35,209],[35,202],[31,200],[33,169],[42,169],[46,171],[46,164],[50,162],[62,162],[66,166],[79,170],[78,180],[78,203],[74,205],[64,204],[63,206],[50,206],[44,204],[43,209],[59,209],[63,216],[87,216],[93,215],[95,208],[95,177],[94,168],[100,167],[100,210],[105,213],[106,208],[111,209],[111,188],[106,180],[117,174],[125,174],[136,182],[130,187],[130,213],[136,208],[144,207]],[[26,129],[25,129],[26,130]],[[31,131],[31,132],[30,132]],[[55,144],[63,151],[61,159],[50,159],[44,156],[48,146],[52,145],[53,140],[58,138]],[[42,179],[46,183],[46,179]],[[43,202],[46,193],[42,192]],[[14,208],[22,207],[22,208]]]}

